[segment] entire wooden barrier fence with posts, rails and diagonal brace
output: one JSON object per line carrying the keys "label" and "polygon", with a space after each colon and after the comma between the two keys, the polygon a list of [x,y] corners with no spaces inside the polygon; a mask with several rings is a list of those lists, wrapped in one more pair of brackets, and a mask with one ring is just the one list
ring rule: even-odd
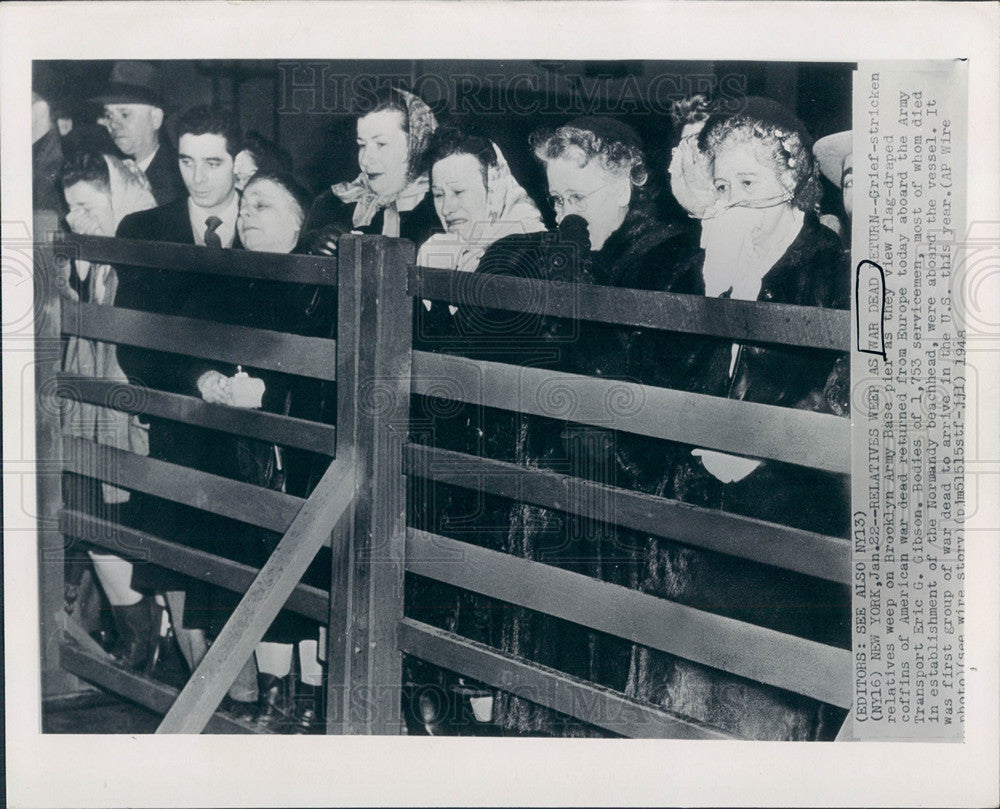
{"label": "entire wooden barrier fence with posts, rails and diagonal brace", "polygon": [[[45,352],[40,351],[44,360],[36,380],[40,470],[56,464],[283,534],[270,560],[257,570],[64,509],[53,475],[40,474],[47,694],[66,690],[61,673],[69,671],[164,711],[160,732],[247,730],[215,710],[270,622],[287,608],[329,626],[328,733],[402,732],[401,653],[406,653],[585,722],[600,725],[601,717],[614,717],[604,726],[619,734],[724,737],[715,728],[404,617],[404,574],[412,573],[841,708],[850,706],[846,650],[407,528],[405,485],[412,475],[587,518],[607,520],[610,514],[624,528],[847,583],[850,547],[840,537],[408,441],[410,394],[440,395],[434,379],[447,377],[449,396],[457,401],[550,417],[551,412],[539,408],[538,393],[555,380],[577,393],[573,408],[558,416],[568,421],[848,473],[849,423],[834,416],[412,349],[414,297],[461,303],[471,295],[478,305],[492,308],[836,351],[849,347],[847,312],[566,284],[559,285],[558,294],[546,294],[555,287],[542,281],[413,267],[412,245],[381,237],[344,237],[337,259],[81,236],[66,237],[53,249],[111,264],[335,285],[337,338],[90,304],[64,303],[60,314],[57,295],[40,296],[39,311],[45,315],[39,319],[38,345]],[[37,264],[40,273],[54,272],[52,256]],[[52,350],[61,334],[335,380],[337,421],[319,424],[62,375],[58,352]],[[604,406],[609,386],[628,388],[645,406],[609,422]],[[79,438],[60,440],[53,428],[60,396],[298,447],[332,461],[312,494],[297,498]],[[599,510],[608,504],[607,511]],[[62,609],[60,535],[112,551],[131,550],[244,593],[197,676],[179,694],[115,669],[99,647],[51,642],[62,636],[55,618]],[[332,551],[330,592],[300,583],[323,545]],[[456,564],[457,559],[462,563]]]}

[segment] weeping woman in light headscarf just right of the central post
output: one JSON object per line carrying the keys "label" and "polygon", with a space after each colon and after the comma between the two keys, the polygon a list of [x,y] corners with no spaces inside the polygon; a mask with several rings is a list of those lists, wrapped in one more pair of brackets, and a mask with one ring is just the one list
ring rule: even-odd
{"label": "weeping woman in light headscarf just right of the central post", "polygon": [[[538,208],[511,173],[500,149],[490,140],[453,127],[441,127],[431,138],[427,166],[434,207],[445,232],[431,236],[423,244],[417,256],[419,266],[475,273],[486,251],[498,240],[544,231]],[[482,320],[475,312],[474,306],[421,301],[420,346],[425,350],[463,354],[479,353],[484,347],[488,351],[496,331],[480,328]],[[490,429],[490,435],[484,428]],[[510,414],[432,397],[413,397],[411,431],[421,443],[489,454],[486,448],[495,448],[492,438],[497,434],[509,436],[511,429]],[[498,503],[497,498],[468,489],[431,485],[416,477],[410,478],[410,486],[410,519],[425,530],[444,533],[457,529],[462,535],[471,532],[480,536],[487,523],[495,522],[491,517],[506,514],[506,506]],[[490,635],[491,616],[482,608],[481,599],[471,593],[414,576],[408,580],[407,602],[409,614],[420,620],[442,623],[453,631],[477,637]],[[440,718],[433,714],[441,713],[437,709],[443,701],[456,702],[452,698],[458,693],[471,695],[473,710],[477,710],[490,700],[490,692],[415,659],[407,659],[406,677],[410,687],[416,689],[417,696],[412,700],[414,713],[420,715],[421,722],[432,732],[437,732],[434,725]],[[448,688],[442,694],[445,685]],[[433,701],[428,699],[428,688],[438,695]],[[453,705],[452,718],[460,716],[462,707]]]}

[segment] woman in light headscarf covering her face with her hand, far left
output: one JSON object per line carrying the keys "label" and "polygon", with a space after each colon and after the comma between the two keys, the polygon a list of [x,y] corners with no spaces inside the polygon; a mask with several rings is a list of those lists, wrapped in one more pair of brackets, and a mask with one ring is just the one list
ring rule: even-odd
{"label": "woman in light headscarf covering her face with her hand, far left", "polygon": [[[109,155],[81,154],[63,166],[63,194],[69,213],[66,223],[74,233],[88,236],[114,236],[118,223],[128,214],[156,206],[149,182],[131,160],[119,160]],[[118,288],[118,277],[109,264],[77,260],[67,265],[66,294],[74,301],[112,306]],[[94,377],[123,385],[128,383],[118,365],[113,343],[70,337],[66,344],[63,369],[67,373]],[[149,451],[148,434],[136,416],[87,402],[76,402],[64,422],[69,435],[97,441],[145,455]],[[82,484],[86,485],[86,484]],[[124,489],[102,483],[101,505],[107,513],[128,501]],[[79,487],[69,490],[70,499],[80,493]],[[96,498],[96,494],[93,495]],[[111,603],[118,643],[114,649],[117,660],[129,668],[143,668],[152,662],[159,638],[160,608],[150,596],[143,596],[131,587],[132,565],[106,553],[91,551],[97,577]]]}

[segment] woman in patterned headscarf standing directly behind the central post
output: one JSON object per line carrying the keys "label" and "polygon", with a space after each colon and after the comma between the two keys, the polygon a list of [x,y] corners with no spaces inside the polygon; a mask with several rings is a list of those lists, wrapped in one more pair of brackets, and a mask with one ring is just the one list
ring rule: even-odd
{"label": "woman in patterned headscarf standing directly behind the central post", "polygon": [[382,234],[423,244],[437,227],[423,158],[437,129],[434,113],[413,93],[391,88],[357,121],[361,174],[313,203],[305,225],[311,252],[333,255],[344,233]]}

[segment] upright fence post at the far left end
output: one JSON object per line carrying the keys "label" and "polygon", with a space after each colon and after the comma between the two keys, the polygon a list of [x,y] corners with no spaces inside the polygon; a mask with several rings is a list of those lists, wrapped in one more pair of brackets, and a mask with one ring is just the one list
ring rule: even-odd
{"label": "upright fence post at the far left end", "polygon": [[[51,230],[51,226],[49,228]],[[35,297],[35,472],[38,495],[39,619],[41,630],[42,696],[80,691],[83,684],[59,661],[63,639],[65,599],[65,544],[59,531],[62,508],[62,425],[57,397],[57,375],[62,360],[61,301],[56,255],[51,234],[36,219],[34,260]]]}

